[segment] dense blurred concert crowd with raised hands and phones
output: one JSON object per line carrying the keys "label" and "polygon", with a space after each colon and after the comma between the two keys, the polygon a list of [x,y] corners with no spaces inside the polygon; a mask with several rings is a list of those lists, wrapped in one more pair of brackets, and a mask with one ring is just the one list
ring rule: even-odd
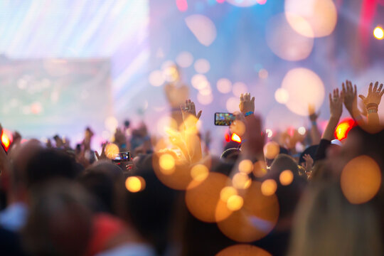
{"label": "dense blurred concert crowd with raised hands and phones", "polygon": [[[1,255],[383,255],[383,85],[330,93],[322,134],[309,106],[306,131],[269,136],[242,94],[241,143],[220,156],[176,86],[166,137],[126,121],[97,152],[90,127],[75,146],[15,132],[0,151]],[[339,141],[343,106],[353,128]]]}

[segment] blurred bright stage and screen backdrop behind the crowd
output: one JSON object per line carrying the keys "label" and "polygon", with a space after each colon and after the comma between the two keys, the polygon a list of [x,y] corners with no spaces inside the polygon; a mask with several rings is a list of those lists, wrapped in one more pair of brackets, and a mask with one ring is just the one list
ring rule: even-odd
{"label": "blurred bright stage and screen backdrop behind the crowd", "polygon": [[277,131],[308,127],[309,102],[325,127],[346,79],[383,82],[383,26],[383,0],[0,0],[0,121],[73,143],[90,126],[98,149],[126,119],[161,133],[179,77],[220,154],[214,113],[242,92]]}

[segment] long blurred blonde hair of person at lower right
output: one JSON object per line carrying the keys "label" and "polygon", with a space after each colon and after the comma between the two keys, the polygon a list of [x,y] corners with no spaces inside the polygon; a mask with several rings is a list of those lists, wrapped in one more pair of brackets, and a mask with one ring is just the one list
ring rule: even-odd
{"label": "long blurred blonde hair of person at lower right", "polygon": [[289,256],[383,255],[372,202],[349,203],[338,183],[309,188],[294,218]]}

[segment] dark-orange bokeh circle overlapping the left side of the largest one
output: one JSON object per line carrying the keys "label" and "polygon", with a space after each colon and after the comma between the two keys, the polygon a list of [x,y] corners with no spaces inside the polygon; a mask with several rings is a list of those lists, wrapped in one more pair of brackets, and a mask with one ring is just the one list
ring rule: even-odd
{"label": "dark-orange bokeh circle overlapping the left side of the largest one", "polygon": [[208,223],[227,218],[231,211],[227,208],[226,203],[220,200],[220,192],[229,182],[229,178],[224,174],[209,173],[208,177],[198,186],[188,187],[186,206],[191,214]]}

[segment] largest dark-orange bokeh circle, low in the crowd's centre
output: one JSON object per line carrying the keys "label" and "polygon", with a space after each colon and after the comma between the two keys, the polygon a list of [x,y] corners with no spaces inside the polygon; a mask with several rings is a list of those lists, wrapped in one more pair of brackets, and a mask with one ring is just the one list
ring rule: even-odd
{"label": "largest dark-orange bokeh circle, low in the crowd's centre", "polygon": [[252,242],[265,237],[276,225],[279,216],[277,197],[264,196],[260,188],[260,182],[252,182],[242,195],[242,208],[218,222],[218,228],[228,238],[238,242]]}

